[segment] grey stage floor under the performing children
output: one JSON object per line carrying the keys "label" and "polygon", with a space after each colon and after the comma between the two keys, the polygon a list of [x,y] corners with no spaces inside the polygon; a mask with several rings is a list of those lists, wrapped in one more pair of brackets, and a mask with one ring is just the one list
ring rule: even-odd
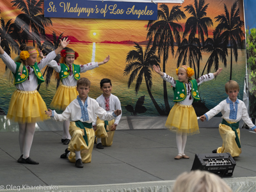
{"label": "grey stage floor under the performing children", "polygon": [[[143,123],[143,122],[141,122]],[[145,124],[147,124],[145,122]],[[0,132],[0,184],[3,186],[77,186],[175,180],[190,172],[195,154],[207,154],[222,141],[217,128],[200,128],[188,136],[186,155],[175,160],[175,133],[167,129],[129,129],[115,132],[113,145],[92,152],[92,163],[76,168],[60,159],[67,145],[61,131],[36,131],[30,157],[38,165],[20,164],[19,132]],[[237,157],[233,177],[256,177],[256,134],[241,129],[242,154]]]}

